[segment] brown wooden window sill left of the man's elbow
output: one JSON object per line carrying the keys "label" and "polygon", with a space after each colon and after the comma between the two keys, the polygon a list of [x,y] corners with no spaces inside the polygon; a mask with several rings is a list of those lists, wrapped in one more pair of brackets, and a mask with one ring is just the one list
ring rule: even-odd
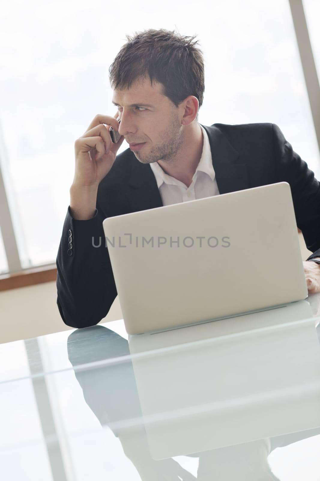
{"label": "brown wooden window sill left of the man's elbow", "polygon": [[48,266],[32,267],[14,274],[0,276],[0,291],[18,289],[19,287],[33,286],[44,282],[57,280],[57,267],[55,264]]}

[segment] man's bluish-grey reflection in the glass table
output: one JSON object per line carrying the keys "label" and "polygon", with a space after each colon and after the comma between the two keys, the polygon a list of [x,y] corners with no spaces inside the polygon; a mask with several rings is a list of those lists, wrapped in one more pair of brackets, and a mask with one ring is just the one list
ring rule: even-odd
{"label": "man's bluish-grey reflection in the glass table", "polygon": [[199,458],[195,478],[172,458],[155,461],[150,456],[133,366],[130,358],[122,359],[130,356],[128,342],[110,329],[94,326],[72,332],[67,347],[74,367],[100,360],[116,360],[111,365],[75,369],[75,376],[86,404],[101,426],[108,425],[119,438],[124,454],[132,461],[143,481],[278,480],[268,464],[271,451],[320,434],[320,429],[308,430],[196,453],[191,455]]}

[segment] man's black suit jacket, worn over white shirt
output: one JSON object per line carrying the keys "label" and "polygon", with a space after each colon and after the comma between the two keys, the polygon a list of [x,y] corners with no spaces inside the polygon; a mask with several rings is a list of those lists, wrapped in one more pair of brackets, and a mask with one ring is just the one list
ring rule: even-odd
{"label": "man's black suit jacket, worn over white shirt", "polygon": [[[308,259],[320,256],[320,183],[274,124],[203,126],[220,194],[286,181],[290,184],[297,227]],[[97,324],[113,303],[114,283],[102,221],[106,217],[162,206],[150,165],[130,149],[119,154],[98,187],[97,210],[89,220],[75,220],[70,206],[57,256],[60,314],[68,326]],[[100,247],[93,247],[94,244]]]}

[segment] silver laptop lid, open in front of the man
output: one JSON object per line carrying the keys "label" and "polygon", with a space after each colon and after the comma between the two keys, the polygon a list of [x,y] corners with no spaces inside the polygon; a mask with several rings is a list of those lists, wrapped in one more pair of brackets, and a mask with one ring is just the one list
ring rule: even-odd
{"label": "silver laptop lid, open in front of the man", "polygon": [[287,182],[109,217],[103,229],[129,334],[308,297]]}

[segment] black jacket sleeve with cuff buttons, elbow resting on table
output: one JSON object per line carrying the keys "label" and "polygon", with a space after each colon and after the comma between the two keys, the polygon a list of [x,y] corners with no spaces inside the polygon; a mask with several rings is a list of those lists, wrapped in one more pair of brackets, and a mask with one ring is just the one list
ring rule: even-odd
{"label": "black jacket sleeve with cuff buttons, elbow resting on table", "polygon": [[105,217],[96,209],[92,219],[75,220],[68,207],[57,255],[57,304],[67,326],[97,324],[117,296],[102,228]]}

